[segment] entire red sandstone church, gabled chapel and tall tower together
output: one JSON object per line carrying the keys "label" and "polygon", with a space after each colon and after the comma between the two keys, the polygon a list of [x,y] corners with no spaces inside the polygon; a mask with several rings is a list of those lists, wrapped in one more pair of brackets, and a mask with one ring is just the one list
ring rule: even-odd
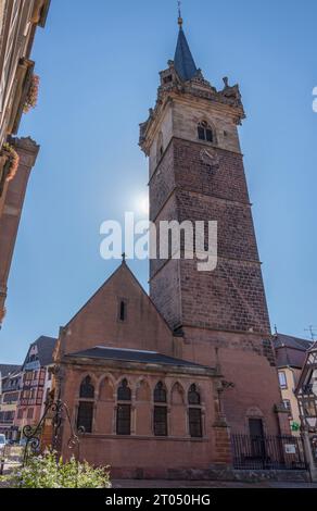
{"label": "entire red sandstone church, gabled chapel and tall tower together", "polygon": [[217,221],[216,270],[152,260],[149,297],[123,261],[60,331],[61,452],[83,426],[79,458],[113,476],[208,477],[232,464],[230,432],[289,433],[237,128],[244,111],[224,82],[217,91],[204,79],[180,28],[140,127],[151,220]]}

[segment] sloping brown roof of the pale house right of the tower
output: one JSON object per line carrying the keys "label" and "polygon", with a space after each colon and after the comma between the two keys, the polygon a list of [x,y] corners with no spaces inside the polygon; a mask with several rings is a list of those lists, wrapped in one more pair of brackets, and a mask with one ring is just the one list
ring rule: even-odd
{"label": "sloping brown roof of the pale house right of the tower", "polygon": [[313,345],[309,340],[279,333],[272,337],[272,342],[276,351],[277,366],[296,369],[303,367],[306,352]]}

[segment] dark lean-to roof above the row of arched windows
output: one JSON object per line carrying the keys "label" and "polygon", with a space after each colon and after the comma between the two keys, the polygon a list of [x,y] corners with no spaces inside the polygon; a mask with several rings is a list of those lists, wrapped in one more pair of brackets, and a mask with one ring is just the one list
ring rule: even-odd
{"label": "dark lean-to roof above the row of arched windows", "polygon": [[211,369],[205,367],[187,360],[175,359],[174,357],[167,357],[161,354],[156,351],[147,351],[147,350],[135,350],[135,349],[121,349],[121,348],[107,348],[103,346],[96,346],[94,348],[78,351],[76,353],[68,353],[65,357],[75,357],[75,358],[85,358],[85,359],[103,359],[103,360],[114,360],[114,361],[124,361],[124,362],[143,362],[161,365],[177,365],[181,367],[201,367],[201,369]]}

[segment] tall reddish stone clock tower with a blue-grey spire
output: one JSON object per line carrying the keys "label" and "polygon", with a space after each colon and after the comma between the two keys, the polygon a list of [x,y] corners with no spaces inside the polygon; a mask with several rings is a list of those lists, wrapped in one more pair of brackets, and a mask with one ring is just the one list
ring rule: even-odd
{"label": "tall reddish stone clock tower with a blue-grey spire", "polygon": [[201,272],[196,260],[152,260],[150,295],[181,357],[221,371],[231,431],[276,434],[288,421],[239,142],[241,95],[227,78],[223,90],[204,78],[178,23],[174,61],[160,73],[155,108],[140,125],[150,220],[157,230],[161,221],[216,221],[218,262]]}

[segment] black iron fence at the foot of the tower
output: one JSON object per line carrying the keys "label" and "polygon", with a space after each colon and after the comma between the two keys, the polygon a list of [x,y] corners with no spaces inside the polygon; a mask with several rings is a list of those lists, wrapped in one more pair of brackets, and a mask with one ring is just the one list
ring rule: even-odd
{"label": "black iron fence at the foot of the tower", "polygon": [[231,435],[237,470],[306,470],[304,444],[295,436]]}

